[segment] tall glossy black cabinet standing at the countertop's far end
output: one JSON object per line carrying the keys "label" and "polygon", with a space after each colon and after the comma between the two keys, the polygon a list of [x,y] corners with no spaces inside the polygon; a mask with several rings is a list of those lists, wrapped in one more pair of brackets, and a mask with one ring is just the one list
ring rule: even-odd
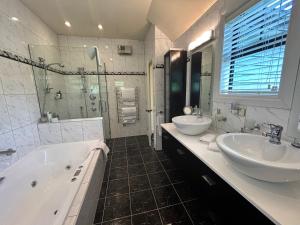
{"label": "tall glossy black cabinet standing at the countertop's far end", "polygon": [[164,113],[165,121],[183,114],[186,96],[187,52],[171,49],[164,56]]}

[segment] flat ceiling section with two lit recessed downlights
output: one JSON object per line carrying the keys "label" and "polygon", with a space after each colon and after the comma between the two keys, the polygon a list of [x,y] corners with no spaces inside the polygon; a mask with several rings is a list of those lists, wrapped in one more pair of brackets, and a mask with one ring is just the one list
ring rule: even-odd
{"label": "flat ceiling section with two lit recessed downlights", "polygon": [[[57,34],[143,40],[149,26],[151,0],[21,1]],[[65,20],[71,28],[64,25]]]}

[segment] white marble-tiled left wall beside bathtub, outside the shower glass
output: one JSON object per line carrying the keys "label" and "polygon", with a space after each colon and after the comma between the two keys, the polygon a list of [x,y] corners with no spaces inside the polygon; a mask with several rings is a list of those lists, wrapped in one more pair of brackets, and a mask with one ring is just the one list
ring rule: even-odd
{"label": "white marble-tiled left wall beside bathtub, outside the shower glass", "polygon": [[[19,0],[1,0],[0,49],[29,57],[28,44],[56,45],[57,36]],[[0,170],[39,145],[39,117],[31,66],[1,57],[0,149],[13,148],[17,154],[0,158]]]}

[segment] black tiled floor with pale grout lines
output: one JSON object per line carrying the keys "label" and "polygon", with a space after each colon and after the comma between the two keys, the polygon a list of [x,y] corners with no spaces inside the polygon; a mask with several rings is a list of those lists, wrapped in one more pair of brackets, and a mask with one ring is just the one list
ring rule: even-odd
{"label": "black tiled floor with pale grout lines", "polygon": [[146,136],[113,139],[95,224],[214,224],[180,169]]}

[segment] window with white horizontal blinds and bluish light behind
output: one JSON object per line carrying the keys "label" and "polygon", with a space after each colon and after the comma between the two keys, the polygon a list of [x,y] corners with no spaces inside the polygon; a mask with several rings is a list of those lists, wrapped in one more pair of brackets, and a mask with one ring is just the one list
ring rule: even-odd
{"label": "window with white horizontal blinds and bluish light behind", "polygon": [[221,94],[279,94],[292,7],[261,0],[225,24]]}

